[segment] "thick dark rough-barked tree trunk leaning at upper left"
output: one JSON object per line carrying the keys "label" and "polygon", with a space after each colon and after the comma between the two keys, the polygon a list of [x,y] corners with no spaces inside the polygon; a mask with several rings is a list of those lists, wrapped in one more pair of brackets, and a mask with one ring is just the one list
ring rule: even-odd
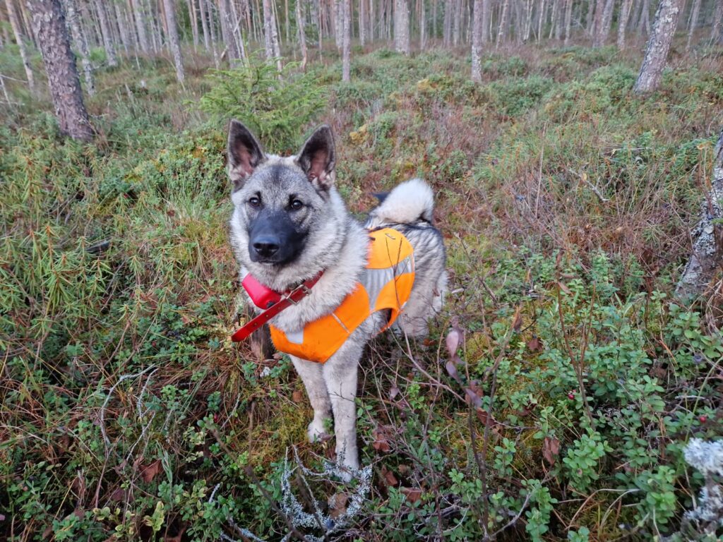
{"label": "thick dark rough-barked tree trunk leaning at upper left", "polygon": [[28,0],[27,5],[35,35],[40,38],[38,45],[60,131],[73,139],[88,141],[93,138],[93,128],[85,111],[60,0]]}

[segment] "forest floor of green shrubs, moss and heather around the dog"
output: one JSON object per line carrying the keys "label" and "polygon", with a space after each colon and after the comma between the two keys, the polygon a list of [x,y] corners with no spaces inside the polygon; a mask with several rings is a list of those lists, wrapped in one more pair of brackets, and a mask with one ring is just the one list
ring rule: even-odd
{"label": "forest floor of green shrubs, moss and heather around the dog", "polygon": [[[612,47],[489,54],[480,84],[462,51],[356,50],[349,84],[333,59],[280,82],[257,64],[210,77],[187,53],[184,88],[168,60],[129,59],[98,71],[91,145],[10,81],[0,538],[692,538],[703,477],[682,450],[723,434],[722,296],[689,309],[672,292],[723,125],[723,50],[682,50],[645,97],[641,53]],[[333,441],[305,439],[288,359],[229,340],[231,115],[272,152],[330,124],[355,213],[411,176],[437,192],[448,304],[424,343],[364,354],[371,471],[349,486],[324,473]]]}

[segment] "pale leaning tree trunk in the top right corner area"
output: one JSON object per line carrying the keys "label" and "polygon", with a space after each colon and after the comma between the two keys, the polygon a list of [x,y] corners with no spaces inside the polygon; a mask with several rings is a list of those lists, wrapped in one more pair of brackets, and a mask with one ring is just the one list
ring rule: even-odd
{"label": "pale leaning tree trunk in the top right corner area", "polygon": [[633,92],[647,93],[658,87],[679,14],[680,0],[660,0],[645,59]]}

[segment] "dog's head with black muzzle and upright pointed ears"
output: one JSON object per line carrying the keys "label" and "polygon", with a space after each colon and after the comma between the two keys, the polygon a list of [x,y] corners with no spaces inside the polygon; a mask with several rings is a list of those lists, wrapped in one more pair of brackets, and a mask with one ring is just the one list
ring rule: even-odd
{"label": "dog's head with black muzzle and upright pointed ears", "polygon": [[[231,238],[236,257],[257,278],[278,286],[306,278],[335,249],[343,221],[335,190],[335,149],[320,126],[297,155],[267,155],[249,129],[231,121],[228,176],[233,182]],[[292,278],[293,277],[293,278]]]}

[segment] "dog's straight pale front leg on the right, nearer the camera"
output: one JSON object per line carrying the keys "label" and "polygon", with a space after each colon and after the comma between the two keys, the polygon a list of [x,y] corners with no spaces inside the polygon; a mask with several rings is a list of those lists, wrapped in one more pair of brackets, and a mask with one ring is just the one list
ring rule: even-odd
{"label": "dog's straight pale front leg on the right, nearer the camera", "polygon": [[[336,437],[336,460],[342,467],[359,469],[359,452],[356,449],[356,379],[359,371],[359,358],[363,344],[353,340],[344,344],[322,366],[324,380],[331,399],[334,413],[334,434]],[[345,481],[352,474],[343,476]]]}

